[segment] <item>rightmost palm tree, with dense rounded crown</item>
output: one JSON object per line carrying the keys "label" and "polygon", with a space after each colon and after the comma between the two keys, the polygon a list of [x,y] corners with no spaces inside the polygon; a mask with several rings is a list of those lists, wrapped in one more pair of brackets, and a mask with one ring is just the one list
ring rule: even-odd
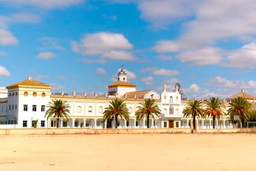
{"label": "rightmost palm tree, with dense rounded crown", "polygon": [[[230,116],[239,115],[242,127],[244,125],[245,118],[249,115],[250,110],[251,104],[243,97],[236,97],[235,99],[231,99],[229,102],[228,114]],[[231,121],[232,119],[233,118],[231,118]]]}

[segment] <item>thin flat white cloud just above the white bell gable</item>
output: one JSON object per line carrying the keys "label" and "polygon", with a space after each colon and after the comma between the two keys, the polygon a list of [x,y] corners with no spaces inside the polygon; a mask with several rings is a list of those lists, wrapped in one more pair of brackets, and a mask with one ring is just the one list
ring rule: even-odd
{"label": "thin flat white cloud just above the white bell gable", "polygon": [[167,70],[163,68],[148,67],[141,69],[141,72],[152,72],[153,75],[166,75],[166,76],[175,76],[179,75],[180,72],[177,70]]}

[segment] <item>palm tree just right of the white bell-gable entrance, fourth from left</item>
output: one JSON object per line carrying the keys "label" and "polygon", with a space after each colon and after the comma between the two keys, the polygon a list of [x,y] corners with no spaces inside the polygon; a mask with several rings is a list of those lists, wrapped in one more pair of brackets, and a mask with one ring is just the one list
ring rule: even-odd
{"label": "palm tree just right of the white bell-gable entrance, fourth from left", "polygon": [[204,116],[204,109],[202,108],[203,102],[194,100],[194,101],[189,101],[187,106],[183,109],[183,117],[192,117],[193,118],[193,129],[195,130],[195,117],[202,117],[205,118]]}

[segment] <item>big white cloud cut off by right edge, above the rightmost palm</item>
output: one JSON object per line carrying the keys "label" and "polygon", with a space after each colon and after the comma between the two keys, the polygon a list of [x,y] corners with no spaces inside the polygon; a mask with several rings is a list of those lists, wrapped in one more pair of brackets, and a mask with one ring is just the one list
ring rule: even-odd
{"label": "big white cloud cut off by right edge, above the rightmost palm", "polygon": [[244,45],[242,48],[229,53],[227,59],[228,61],[224,66],[256,69],[256,44]]}

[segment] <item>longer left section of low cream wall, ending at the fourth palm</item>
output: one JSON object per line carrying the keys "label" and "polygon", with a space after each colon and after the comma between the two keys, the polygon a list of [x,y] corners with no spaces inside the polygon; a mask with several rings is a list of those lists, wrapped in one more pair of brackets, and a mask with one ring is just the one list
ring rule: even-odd
{"label": "longer left section of low cream wall, ending at the fourth palm", "polygon": [[132,133],[190,133],[190,129],[90,129],[90,128],[16,128],[0,129],[0,135],[47,134],[132,134]]}

